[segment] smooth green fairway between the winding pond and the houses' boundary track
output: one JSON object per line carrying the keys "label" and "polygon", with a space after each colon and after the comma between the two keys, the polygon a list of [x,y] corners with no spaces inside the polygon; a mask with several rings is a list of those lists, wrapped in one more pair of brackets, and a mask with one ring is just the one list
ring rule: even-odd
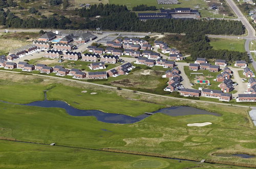
{"label": "smooth green fairway between the winding pond and the houses' boundary track", "polygon": [[[81,93],[86,90],[87,93]],[[61,92],[59,92],[61,91]],[[96,92],[97,94],[91,95]],[[68,96],[63,98],[63,96]],[[48,92],[49,100],[63,100],[73,107],[84,110],[102,110],[107,113],[119,113],[138,116],[144,112],[153,112],[164,108],[164,105],[128,100],[113,92],[77,89],[67,86],[56,86]]]}

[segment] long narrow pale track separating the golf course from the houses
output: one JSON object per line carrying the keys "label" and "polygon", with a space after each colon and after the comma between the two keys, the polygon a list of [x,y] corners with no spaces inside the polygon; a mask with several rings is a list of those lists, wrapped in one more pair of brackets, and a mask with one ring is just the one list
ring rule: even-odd
{"label": "long narrow pale track separating the golf course from the houses", "polygon": [[[22,72],[14,72],[14,71],[7,71],[7,70],[0,70],[0,72],[22,73]],[[94,86],[99,86],[99,87],[103,87],[103,88],[117,89],[116,87],[100,85],[100,84],[97,84],[97,83],[92,83],[92,82],[87,82],[87,81],[79,81],[79,80],[67,79],[67,78],[62,78],[62,77],[55,77],[55,76],[48,76],[48,75],[39,75],[39,74],[31,74],[31,75],[47,77],[47,78],[54,78],[54,79],[59,79],[59,80],[74,81],[74,82],[83,83],[83,84],[86,84],[86,85],[94,85]],[[134,93],[133,90],[129,90],[129,89],[122,89],[122,90]],[[236,107],[250,108],[249,106],[246,106],[246,105],[237,105],[237,104],[230,104],[230,103],[219,103],[219,102],[203,101],[203,100],[191,100],[191,99],[186,99],[186,98],[176,98],[176,97],[170,97],[170,96],[162,96],[162,95],[158,95],[158,94],[147,93],[147,92],[139,92],[139,91],[137,91],[136,93],[137,94],[149,95],[149,96],[162,97],[162,98],[184,100],[184,101],[190,101],[190,102],[193,101],[193,102],[212,103],[212,104],[220,104],[220,105],[232,105],[232,106],[236,106]]]}

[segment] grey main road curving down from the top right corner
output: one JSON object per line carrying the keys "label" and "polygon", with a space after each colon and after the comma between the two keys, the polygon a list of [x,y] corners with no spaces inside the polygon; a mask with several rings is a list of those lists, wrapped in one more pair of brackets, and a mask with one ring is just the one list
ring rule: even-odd
{"label": "grey main road curving down from the top right corner", "polygon": [[241,22],[244,24],[245,28],[248,30],[248,35],[245,37],[246,41],[245,41],[245,50],[248,53],[248,55],[251,58],[252,61],[252,66],[254,67],[254,69],[256,69],[256,62],[253,60],[251,53],[250,53],[250,49],[249,49],[249,45],[250,45],[250,41],[251,39],[255,39],[255,30],[254,28],[250,25],[249,21],[246,19],[246,17],[243,15],[243,13],[240,11],[240,9],[237,7],[237,5],[233,2],[233,0],[226,0],[228,5],[232,8],[232,10],[234,11],[234,13],[236,13],[236,15],[238,16],[239,20],[241,20]]}

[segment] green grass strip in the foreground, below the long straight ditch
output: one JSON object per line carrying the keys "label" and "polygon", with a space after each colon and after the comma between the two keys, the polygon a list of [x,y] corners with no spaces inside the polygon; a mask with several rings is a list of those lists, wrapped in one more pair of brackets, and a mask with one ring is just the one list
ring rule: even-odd
{"label": "green grass strip in the foreground, below the long straight ditch", "polygon": [[[0,140],[1,168],[228,168],[229,165],[198,164],[196,162],[156,157],[98,152],[70,147],[49,146]],[[15,160],[13,160],[15,159]],[[18,162],[17,162],[18,161]],[[240,167],[239,167],[240,168]]]}

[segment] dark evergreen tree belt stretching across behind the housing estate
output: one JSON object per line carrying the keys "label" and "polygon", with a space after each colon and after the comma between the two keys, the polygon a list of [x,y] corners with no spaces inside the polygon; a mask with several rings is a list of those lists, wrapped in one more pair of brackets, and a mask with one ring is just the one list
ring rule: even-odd
{"label": "dark evergreen tree belt stretching across behind the housing estate", "polygon": [[[136,13],[129,11],[126,6],[114,4],[92,5],[90,9],[78,10],[77,14],[83,19],[70,20],[61,15],[45,16],[41,19],[34,17],[22,19],[9,10],[5,12],[3,8],[0,8],[0,24],[13,28],[60,29],[95,29],[101,26],[103,30],[159,33],[202,32],[204,34],[240,35],[245,32],[243,24],[237,20],[152,19],[143,22],[138,19]],[[90,19],[97,15],[101,17]]]}

